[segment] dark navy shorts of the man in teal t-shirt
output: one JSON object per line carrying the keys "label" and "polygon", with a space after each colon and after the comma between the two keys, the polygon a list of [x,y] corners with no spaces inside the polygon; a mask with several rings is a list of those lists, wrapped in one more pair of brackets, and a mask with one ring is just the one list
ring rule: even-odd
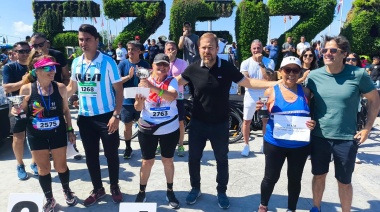
{"label": "dark navy shorts of the man in teal t-shirt", "polygon": [[343,184],[351,183],[359,147],[356,141],[311,136],[310,142],[313,175],[323,175],[329,172],[331,154],[333,154],[335,178]]}

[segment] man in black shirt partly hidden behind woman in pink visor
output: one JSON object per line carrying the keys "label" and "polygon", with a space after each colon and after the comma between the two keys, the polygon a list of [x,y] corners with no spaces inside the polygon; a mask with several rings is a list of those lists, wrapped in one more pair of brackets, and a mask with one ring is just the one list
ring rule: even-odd
{"label": "man in black shirt partly hidden behind woman in pink visor", "polygon": [[31,46],[44,55],[50,55],[55,58],[56,62],[60,65],[56,65],[56,73],[54,75],[54,81],[65,84],[66,86],[70,82],[70,72],[67,68],[66,58],[62,52],[49,49],[49,41],[46,39],[46,35],[43,33],[35,32],[30,40]]}

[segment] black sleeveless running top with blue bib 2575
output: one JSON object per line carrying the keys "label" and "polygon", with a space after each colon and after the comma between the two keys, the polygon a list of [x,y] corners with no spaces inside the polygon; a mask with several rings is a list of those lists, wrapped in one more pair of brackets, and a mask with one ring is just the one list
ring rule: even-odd
{"label": "black sleeveless running top with blue bib 2575", "polygon": [[63,100],[57,83],[52,82],[50,89],[53,89],[50,96],[42,96],[38,93],[37,82],[32,83],[27,111],[29,132],[56,132],[58,127],[66,125],[63,117]]}

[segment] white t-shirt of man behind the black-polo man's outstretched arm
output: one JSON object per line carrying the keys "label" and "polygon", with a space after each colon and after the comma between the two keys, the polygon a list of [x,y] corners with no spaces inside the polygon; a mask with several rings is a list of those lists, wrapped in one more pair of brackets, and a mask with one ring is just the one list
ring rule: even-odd
{"label": "white t-shirt of man behind the black-polo man's outstretched arm", "polygon": [[[268,69],[275,69],[274,61],[263,57],[262,60],[264,66]],[[259,63],[254,61],[252,57],[244,60],[240,65],[240,72],[248,72],[249,78],[253,79],[264,79],[264,76],[260,70]],[[249,92],[250,96],[252,96],[254,99],[264,96],[265,89],[251,89],[251,88],[245,88],[246,92]]]}

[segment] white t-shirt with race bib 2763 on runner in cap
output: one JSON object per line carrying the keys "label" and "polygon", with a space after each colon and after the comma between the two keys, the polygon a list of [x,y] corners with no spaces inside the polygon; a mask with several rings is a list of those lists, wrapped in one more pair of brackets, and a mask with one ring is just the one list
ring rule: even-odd
{"label": "white t-shirt with race bib 2763 on runner in cap", "polygon": [[[164,83],[164,82],[162,82]],[[154,83],[153,83],[154,84]],[[161,84],[156,85],[159,87]],[[173,78],[168,86],[168,90],[178,90],[178,82]],[[151,97],[151,95],[150,95]],[[156,99],[152,100],[147,98],[144,102],[144,109],[141,111],[141,118],[145,121],[159,124],[165,121],[168,121],[174,116],[178,115],[177,101],[167,101],[164,98],[158,97],[155,95]],[[159,102],[159,104],[158,104]],[[161,126],[153,133],[153,135],[164,135],[176,131],[179,128],[179,121],[173,120],[172,122]]]}

